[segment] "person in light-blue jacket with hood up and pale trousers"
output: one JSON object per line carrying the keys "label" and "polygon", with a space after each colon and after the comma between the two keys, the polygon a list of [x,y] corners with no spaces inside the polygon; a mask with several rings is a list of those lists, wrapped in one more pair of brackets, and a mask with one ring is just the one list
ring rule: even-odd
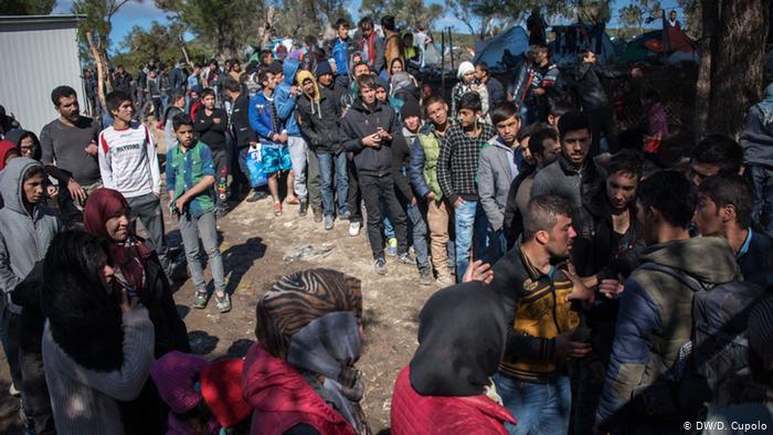
{"label": "person in light-blue jacket with hood up and pale trousers", "polygon": [[[287,148],[289,149],[290,162],[293,163],[293,174],[295,183],[293,191],[298,197],[288,195],[287,203],[300,202],[298,214],[306,215],[308,211],[308,191],[306,190],[306,140],[300,136],[300,128],[295,116],[295,106],[298,102],[300,91],[295,84],[295,76],[300,64],[293,59],[286,59],[283,66],[282,83],[276,87],[274,104],[276,114],[287,128]],[[277,81],[278,82],[278,81]]]}

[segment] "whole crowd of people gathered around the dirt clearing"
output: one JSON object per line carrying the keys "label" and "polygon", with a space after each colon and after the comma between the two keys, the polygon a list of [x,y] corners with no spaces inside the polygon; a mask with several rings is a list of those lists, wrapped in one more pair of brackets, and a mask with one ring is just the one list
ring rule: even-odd
{"label": "whole crowd of people gathered around the dirt clearing", "polygon": [[371,433],[356,277],[282,277],[244,359],[191,354],[170,283],[190,276],[192,307],[231,310],[216,221],[251,189],[276,216],[310,206],[351,236],[364,214],[375,274],[390,257],[444,287],[394,384],[395,434],[766,431],[773,85],[740,144],[708,135],[680,170],[658,158],[653,91],[643,140],[618,141],[603,79],[637,68],[584,50],[562,72],[537,45],[507,86],[462,63],[446,100],[422,83],[413,33],[381,28],[339,20],[335,39],[245,71],[149,63],[137,88],[118,66],[100,119],[60,86],[40,135],[3,128],[0,332],[28,429]]}

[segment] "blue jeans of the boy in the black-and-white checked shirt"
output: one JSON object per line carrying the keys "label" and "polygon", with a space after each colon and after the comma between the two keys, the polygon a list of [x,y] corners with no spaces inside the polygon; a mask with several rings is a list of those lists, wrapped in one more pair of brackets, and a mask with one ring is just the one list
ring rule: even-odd
{"label": "blue jeans of the boy in the black-and-white checked shirt", "polygon": [[488,220],[478,201],[465,201],[454,211],[456,229],[456,280],[462,282],[469,264],[469,248],[473,257],[479,258],[486,251]]}

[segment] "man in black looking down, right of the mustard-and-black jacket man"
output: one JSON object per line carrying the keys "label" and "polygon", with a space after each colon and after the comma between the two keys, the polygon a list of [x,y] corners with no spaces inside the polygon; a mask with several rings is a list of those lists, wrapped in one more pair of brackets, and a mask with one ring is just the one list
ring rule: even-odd
{"label": "man in black looking down, right of the mustard-and-black jacket man", "polygon": [[[636,268],[644,250],[636,219],[636,187],[642,179],[642,157],[623,150],[612,157],[604,189],[583,204],[578,237],[572,244],[572,264],[584,283],[597,287],[596,300],[583,311],[590,328],[593,352],[582,360],[580,388],[574,406],[575,433],[592,434],[593,415],[603,388],[617,318],[620,278]],[[603,296],[602,296],[603,295]]]}

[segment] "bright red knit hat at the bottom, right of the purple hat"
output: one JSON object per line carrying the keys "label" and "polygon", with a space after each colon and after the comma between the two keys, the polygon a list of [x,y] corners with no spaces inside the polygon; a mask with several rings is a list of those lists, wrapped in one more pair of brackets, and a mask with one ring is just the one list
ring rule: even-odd
{"label": "bright red knit hat at the bottom, right of the purple hat", "polygon": [[215,361],[201,371],[201,395],[223,427],[232,427],[252,413],[242,396],[243,371],[242,359]]}

